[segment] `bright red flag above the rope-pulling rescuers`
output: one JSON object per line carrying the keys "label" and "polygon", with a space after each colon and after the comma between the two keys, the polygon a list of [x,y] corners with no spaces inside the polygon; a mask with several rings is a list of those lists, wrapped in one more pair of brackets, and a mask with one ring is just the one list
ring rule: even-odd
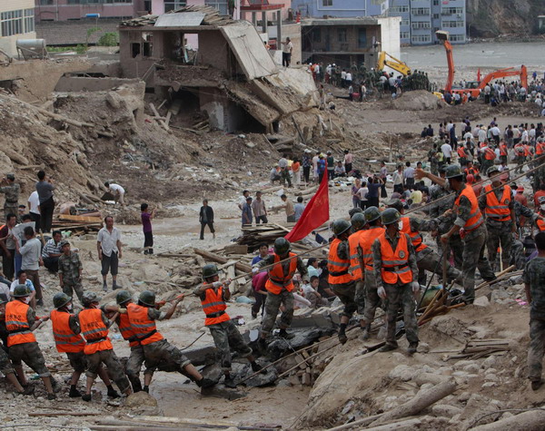
{"label": "bright red flag above the rope-pulling rescuers", "polygon": [[302,211],[301,219],[297,221],[292,230],[284,237],[292,242],[302,240],[312,230],[319,228],[329,220],[329,181],[327,169],[323,172],[322,182],[316,194]]}

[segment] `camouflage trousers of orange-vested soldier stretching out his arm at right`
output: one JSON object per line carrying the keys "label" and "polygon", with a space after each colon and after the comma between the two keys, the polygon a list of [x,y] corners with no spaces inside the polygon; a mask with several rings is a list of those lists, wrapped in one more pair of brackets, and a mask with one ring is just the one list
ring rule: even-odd
{"label": "camouflage trousers of orange-vested soldier stretching out his arm at right", "polygon": [[463,273],[464,293],[461,297],[466,302],[472,302],[475,299],[475,270],[479,269],[482,279],[494,279],[496,276],[490,268],[489,261],[484,257],[484,248],[486,245],[487,234],[484,227],[478,228],[481,232],[464,241],[463,264],[461,267]]}

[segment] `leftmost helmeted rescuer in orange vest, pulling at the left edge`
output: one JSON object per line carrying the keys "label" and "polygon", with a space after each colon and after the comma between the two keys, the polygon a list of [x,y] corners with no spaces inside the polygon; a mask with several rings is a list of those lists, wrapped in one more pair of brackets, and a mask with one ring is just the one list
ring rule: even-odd
{"label": "leftmost helmeted rescuer in orange vest, pulling at the left edge", "polygon": [[23,387],[26,387],[28,382],[23,371],[22,361],[42,378],[47,390],[47,399],[55,399],[54,379],[51,377],[49,369],[45,367],[44,355],[32,333],[49,318],[36,320],[34,309],[28,305],[30,290],[25,284],[15,286],[13,297],[13,301],[5,304],[5,328],[9,333],[7,337],[9,358],[14,364],[15,372]]}

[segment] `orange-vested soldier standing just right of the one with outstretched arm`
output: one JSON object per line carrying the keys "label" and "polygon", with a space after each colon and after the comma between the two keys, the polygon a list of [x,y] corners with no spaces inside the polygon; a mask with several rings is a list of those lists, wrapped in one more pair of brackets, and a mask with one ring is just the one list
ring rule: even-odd
{"label": "orange-vested soldier standing just right of the one with outstretched arm", "polygon": [[[479,208],[484,211],[486,217],[488,258],[492,269],[497,269],[495,268],[496,257],[501,245],[500,259],[503,268],[507,268],[510,262],[513,233],[517,231],[514,199],[510,186],[502,184],[500,170],[496,166],[490,167],[487,175],[492,183],[484,187],[484,193],[479,197]],[[496,190],[492,191],[492,189]]]}

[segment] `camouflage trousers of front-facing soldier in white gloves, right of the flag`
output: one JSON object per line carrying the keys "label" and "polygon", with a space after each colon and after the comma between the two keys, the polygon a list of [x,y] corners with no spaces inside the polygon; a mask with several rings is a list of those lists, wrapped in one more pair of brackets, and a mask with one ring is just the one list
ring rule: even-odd
{"label": "camouflage trousers of front-facing soldier in white gloves, right of the flag", "polygon": [[398,311],[403,312],[405,334],[410,343],[418,343],[418,323],[416,321],[416,300],[411,283],[394,286],[384,283],[386,290],[386,344],[397,347],[395,329]]}

